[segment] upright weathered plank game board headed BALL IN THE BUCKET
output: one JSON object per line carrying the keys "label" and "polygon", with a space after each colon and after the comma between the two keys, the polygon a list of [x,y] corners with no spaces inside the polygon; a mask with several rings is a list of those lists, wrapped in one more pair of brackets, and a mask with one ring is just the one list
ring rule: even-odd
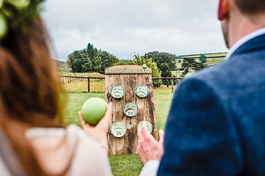
{"label": "upright weathered plank game board headed BALL IN THE BUCKET", "polygon": [[[143,72],[143,70],[145,71]],[[149,70],[150,72],[146,70]],[[105,98],[108,103],[113,102],[112,120],[110,122],[110,131],[108,133],[109,154],[138,154],[137,125],[140,122],[143,120],[150,122],[153,126],[151,134],[156,140],[158,140],[153,81],[151,74],[152,69],[143,69],[142,66],[138,65],[120,65],[105,69],[105,73]],[[149,89],[149,94],[144,98],[138,97],[135,94],[135,88],[140,84],[146,85]],[[125,89],[125,94],[120,99],[114,98],[111,95],[111,89],[115,85],[120,85]],[[133,108],[127,109],[125,107],[125,104],[127,103],[136,104],[138,110]],[[124,111],[126,111],[126,114]],[[120,132],[121,130],[115,131],[112,129],[113,132],[111,132],[112,125],[117,122],[125,124],[127,130],[124,135]],[[117,137],[115,137],[112,133],[114,133]],[[121,133],[121,135],[119,133]]]}

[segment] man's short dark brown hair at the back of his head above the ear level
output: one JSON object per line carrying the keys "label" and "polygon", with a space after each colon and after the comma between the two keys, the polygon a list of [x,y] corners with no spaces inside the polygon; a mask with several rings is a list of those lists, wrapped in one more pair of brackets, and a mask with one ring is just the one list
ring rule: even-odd
{"label": "man's short dark brown hair at the back of his head above the ear level", "polygon": [[235,3],[244,14],[265,12],[265,0],[235,0]]}

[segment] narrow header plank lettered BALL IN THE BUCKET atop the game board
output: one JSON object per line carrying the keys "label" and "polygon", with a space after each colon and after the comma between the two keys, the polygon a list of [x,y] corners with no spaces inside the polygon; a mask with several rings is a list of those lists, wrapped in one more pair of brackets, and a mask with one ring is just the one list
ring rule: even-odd
{"label": "narrow header plank lettered BALL IN THE BUCKET atop the game board", "polygon": [[105,74],[152,74],[152,69],[140,65],[117,65],[105,69]]}

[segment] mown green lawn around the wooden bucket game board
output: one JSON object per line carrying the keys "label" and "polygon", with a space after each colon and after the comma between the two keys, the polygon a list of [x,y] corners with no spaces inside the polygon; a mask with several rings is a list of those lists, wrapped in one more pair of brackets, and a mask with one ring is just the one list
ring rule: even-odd
{"label": "mown green lawn around the wooden bucket game board", "polygon": [[[64,107],[64,122],[67,124],[77,124],[81,126],[77,113],[80,111],[82,104],[85,100],[91,97],[100,97],[105,99],[105,93],[64,93],[63,97],[66,97],[63,101],[68,102]],[[158,129],[165,128],[165,122],[172,97],[172,93],[154,93]],[[143,167],[138,155],[114,155],[109,156],[109,160],[113,175],[139,175]]]}

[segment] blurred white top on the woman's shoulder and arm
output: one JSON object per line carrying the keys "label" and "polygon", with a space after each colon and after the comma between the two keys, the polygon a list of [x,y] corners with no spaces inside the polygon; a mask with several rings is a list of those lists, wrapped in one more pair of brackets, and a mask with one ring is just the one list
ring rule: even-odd
{"label": "blurred white top on the woman's shoulder and arm", "polygon": [[[60,174],[67,167],[66,175],[112,175],[105,150],[76,125],[66,129],[31,128],[25,135],[49,175]],[[0,158],[0,173],[4,171],[7,172]]]}

